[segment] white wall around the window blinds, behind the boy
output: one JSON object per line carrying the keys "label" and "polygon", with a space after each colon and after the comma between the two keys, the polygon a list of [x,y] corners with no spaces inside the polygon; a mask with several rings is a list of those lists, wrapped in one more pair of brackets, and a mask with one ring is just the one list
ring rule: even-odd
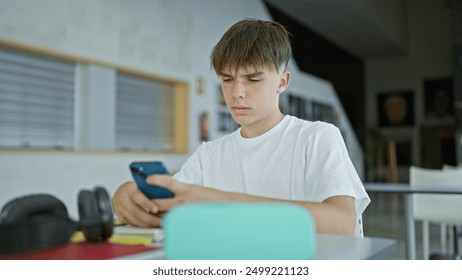
{"label": "white wall around the window blinds, behind the boy", "polygon": [[[209,113],[211,137],[219,136],[218,81],[209,62],[212,47],[239,19],[270,19],[259,0],[0,0],[0,7],[0,39],[187,81],[190,152],[200,143],[202,112]],[[294,63],[291,70],[293,92],[327,100],[340,112],[340,126],[351,139],[350,155],[362,176],[361,149],[330,83],[300,73]],[[196,91],[198,77],[205,80],[202,95]],[[112,195],[131,179],[131,161],[163,160],[174,172],[187,156],[0,151],[0,205],[19,195],[48,192],[77,217],[80,189],[102,185]]]}

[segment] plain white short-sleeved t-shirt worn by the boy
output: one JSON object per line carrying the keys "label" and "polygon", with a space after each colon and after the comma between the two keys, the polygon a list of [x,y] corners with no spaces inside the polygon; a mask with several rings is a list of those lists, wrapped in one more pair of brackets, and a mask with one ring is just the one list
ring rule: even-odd
{"label": "plain white short-sleeved t-shirt worn by the boy", "polygon": [[244,138],[240,128],[202,143],[174,176],[223,191],[322,202],[336,195],[355,198],[356,236],[370,202],[348,156],[340,131],[324,122],[293,116],[268,132]]}

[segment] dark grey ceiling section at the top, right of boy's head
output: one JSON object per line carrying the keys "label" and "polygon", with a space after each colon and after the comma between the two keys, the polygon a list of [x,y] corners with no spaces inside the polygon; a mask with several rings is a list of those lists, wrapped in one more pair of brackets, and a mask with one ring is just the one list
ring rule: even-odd
{"label": "dark grey ceiling section at the top, right of boy's head", "polygon": [[359,58],[406,51],[406,0],[264,1]]}

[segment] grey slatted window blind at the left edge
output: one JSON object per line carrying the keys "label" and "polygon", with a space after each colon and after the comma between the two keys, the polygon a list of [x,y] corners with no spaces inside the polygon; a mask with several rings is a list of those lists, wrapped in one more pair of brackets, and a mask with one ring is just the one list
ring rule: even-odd
{"label": "grey slatted window blind at the left edge", "polygon": [[73,147],[75,65],[0,48],[0,147]]}

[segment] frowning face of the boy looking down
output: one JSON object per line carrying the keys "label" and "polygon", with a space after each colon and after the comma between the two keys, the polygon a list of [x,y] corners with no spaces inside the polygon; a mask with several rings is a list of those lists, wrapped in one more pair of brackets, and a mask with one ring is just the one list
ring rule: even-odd
{"label": "frowning face of the boy looking down", "polygon": [[219,73],[221,88],[228,110],[241,125],[244,137],[261,134],[275,125],[279,118],[279,94],[288,86],[290,73],[279,73],[272,67],[238,68]]}

